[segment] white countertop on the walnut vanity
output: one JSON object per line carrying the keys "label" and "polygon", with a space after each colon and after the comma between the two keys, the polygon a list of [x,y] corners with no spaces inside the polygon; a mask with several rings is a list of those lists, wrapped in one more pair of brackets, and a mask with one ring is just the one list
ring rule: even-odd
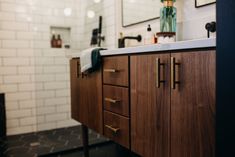
{"label": "white countertop on the walnut vanity", "polygon": [[[135,54],[145,52],[161,52],[171,50],[187,50],[187,49],[199,49],[199,48],[213,48],[216,47],[216,38],[206,38],[197,40],[177,41],[167,44],[153,44],[143,45],[128,48],[118,48],[101,51],[101,56],[123,55],[123,54]],[[68,58],[79,58],[80,52],[68,54]]]}

